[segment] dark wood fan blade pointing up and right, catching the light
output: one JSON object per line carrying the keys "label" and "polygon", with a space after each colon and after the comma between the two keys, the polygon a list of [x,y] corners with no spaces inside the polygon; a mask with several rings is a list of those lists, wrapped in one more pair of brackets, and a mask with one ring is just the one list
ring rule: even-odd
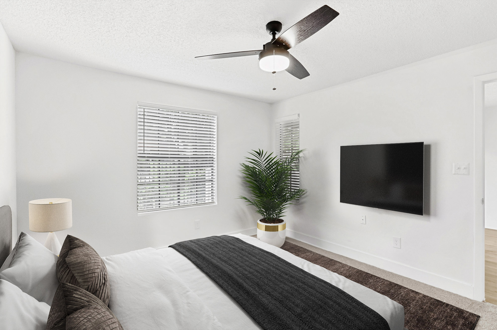
{"label": "dark wood fan blade pointing up and right, catching the light", "polygon": [[302,41],[325,27],[326,24],[330,23],[336,16],[338,16],[338,11],[325,4],[318,10],[302,18],[285,32],[281,33],[278,38],[273,41],[273,44],[279,43],[286,49],[295,47],[295,45],[300,44]]}

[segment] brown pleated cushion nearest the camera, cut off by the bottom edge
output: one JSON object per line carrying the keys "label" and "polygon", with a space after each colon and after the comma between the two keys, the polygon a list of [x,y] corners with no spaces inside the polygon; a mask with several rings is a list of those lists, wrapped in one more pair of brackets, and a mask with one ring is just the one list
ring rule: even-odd
{"label": "brown pleated cushion nearest the camera, cut off by the bottom edge", "polygon": [[107,305],[79,286],[63,282],[55,298],[47,330],[123,330]]}

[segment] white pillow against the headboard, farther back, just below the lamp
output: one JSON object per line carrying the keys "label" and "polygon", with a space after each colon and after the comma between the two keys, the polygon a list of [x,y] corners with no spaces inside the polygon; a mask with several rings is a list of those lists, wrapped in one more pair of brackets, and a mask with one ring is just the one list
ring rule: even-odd
{"label": "white pillow against the headboard, farther back, just below the lamp", "polygon": [[59,286],[56,265],[58,256],[26,233],[17,243],[0,268],[0,279],[48,305],[52,305]]}

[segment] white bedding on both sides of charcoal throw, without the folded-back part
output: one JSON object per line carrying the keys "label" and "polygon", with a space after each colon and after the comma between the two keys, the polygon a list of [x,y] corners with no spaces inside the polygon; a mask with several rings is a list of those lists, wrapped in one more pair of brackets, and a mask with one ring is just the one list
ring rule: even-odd
{"label": "white bedding on both sides of charcoal throw, without the folded-back part", "polygon": [[[347,292],[366,306],[378,312],[388,322],[391,330],[404,329],[404,307],[388,297],[357,284],[321,266],[304,260],[281,248],[276,248],[256,238],[242,234],[232,235],[256,247],[270,251],[294,265],[314,274]],[[223,289],[198,269],[190,260],[173,248],[159,249],[167,264],[185,284],[209,307],[225,329],[259,330],[248,316]]]}

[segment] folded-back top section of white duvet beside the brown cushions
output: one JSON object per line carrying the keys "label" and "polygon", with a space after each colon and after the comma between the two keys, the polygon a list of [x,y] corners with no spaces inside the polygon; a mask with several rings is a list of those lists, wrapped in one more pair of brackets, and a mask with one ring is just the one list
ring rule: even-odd
{"label": "folded-back top section of white duvet beside the brown cushions", "polygon": [[144,248],[102,259],[110,282],[109,309],[123,329],[223,329],[158,250]]}

